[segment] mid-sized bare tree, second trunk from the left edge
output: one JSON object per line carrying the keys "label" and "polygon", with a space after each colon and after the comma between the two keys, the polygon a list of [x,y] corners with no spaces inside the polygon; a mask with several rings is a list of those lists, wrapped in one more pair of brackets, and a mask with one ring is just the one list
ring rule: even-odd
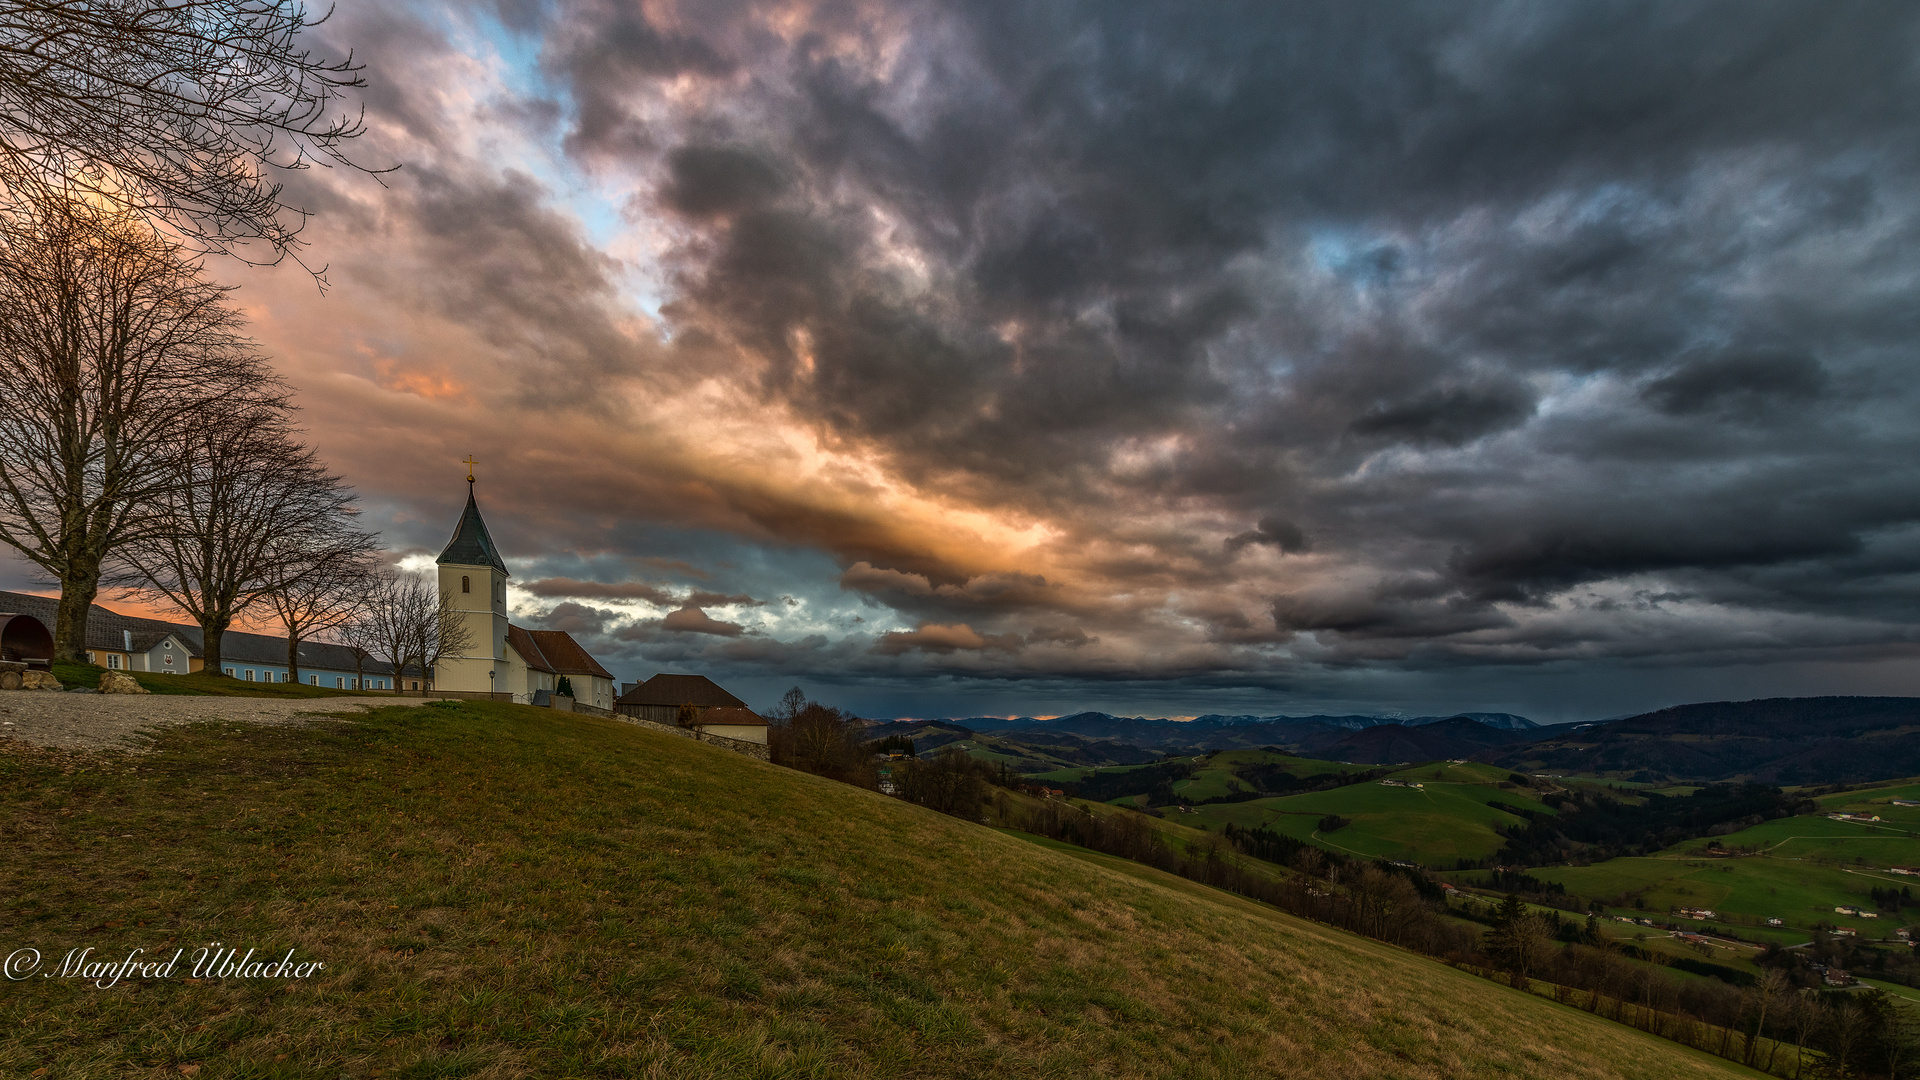
{"label": "mid-sized bare tree, second trunk from the left edge", "polygon": [[207,671],[234,619],[286,588],[301,552],[344,530],[353,492],[284,425],[284,409],[209,423],[182,448],[179,482],[159,500],[165,530],[123,548],[134,592],[200,625]]}

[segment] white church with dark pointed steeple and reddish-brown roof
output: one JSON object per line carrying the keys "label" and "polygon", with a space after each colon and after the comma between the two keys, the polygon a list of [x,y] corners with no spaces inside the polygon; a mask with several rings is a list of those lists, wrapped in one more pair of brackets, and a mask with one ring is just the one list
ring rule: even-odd
{"label": "white church with dark pointed steeple and reddish-brown roof", "polygon": [[474,502],[467,475],[467,511],[440,552],[440,598],[467,626],[468,646],[434,665],[434,690],[492,694],[526,705],[557,698],[561,678],[574,701],[612,713],[612,673],[564,630],[528,630],[507,619],[507,563]]}

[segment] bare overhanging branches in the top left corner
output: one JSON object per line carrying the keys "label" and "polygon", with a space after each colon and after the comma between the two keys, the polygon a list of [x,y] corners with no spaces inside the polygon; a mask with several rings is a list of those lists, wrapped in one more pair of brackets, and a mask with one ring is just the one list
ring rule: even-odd
{"label": "bare overhanging branches in the top left corner", "polygon": [[[0,186],[77,184],[209,252],[278,261],[305,213],[276,169],[357,167],[353,58],[300,0],[0,0]],[[292,221],[288,221],[292,219]]]}

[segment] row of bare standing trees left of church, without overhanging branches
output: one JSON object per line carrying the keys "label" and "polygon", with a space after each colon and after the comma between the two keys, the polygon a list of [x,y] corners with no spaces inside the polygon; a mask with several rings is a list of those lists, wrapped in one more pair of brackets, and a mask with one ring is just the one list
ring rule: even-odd
{"label": "row of bare standing trees left of church, without overhanging branches", "polygon": [[102,586],[223,636],[269,611],[430,669],[461,623],[384,571],[353,492],[294,429],[284,382],[227,290],[136,213],[77,194],[0,206],[0,542],[60,584],[60,659]]}

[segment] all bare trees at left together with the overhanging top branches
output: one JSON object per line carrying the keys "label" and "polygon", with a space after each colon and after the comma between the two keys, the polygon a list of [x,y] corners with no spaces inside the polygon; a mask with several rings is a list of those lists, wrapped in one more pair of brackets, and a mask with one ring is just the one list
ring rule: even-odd
{"label": "all bare trees at left together with the overhanging top branches", "polygon": [[[0,0],[0,542],[60,586],[84,657],[102,586],[223,636],[271,611],[401,669],[468,646],[382,569],[353,494],[200,256],[278,261],[305,211],[278,169],[365,167],[351,56],[300,0]],[[319,271],[315,271],[319,277]]]}

